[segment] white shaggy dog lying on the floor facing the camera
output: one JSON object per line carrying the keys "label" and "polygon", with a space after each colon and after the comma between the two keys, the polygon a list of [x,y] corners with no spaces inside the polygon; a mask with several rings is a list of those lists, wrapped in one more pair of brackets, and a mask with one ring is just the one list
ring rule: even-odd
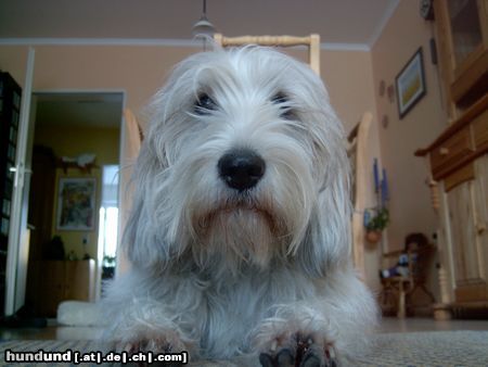
{"label": "white shaggy dog lying on the floor facing the camera", "polygon": [[332,366],[376,306],[350,256],[349,164],[320,78],[270,49],[192,55],[154,98],[105,304],[119,350]]}

